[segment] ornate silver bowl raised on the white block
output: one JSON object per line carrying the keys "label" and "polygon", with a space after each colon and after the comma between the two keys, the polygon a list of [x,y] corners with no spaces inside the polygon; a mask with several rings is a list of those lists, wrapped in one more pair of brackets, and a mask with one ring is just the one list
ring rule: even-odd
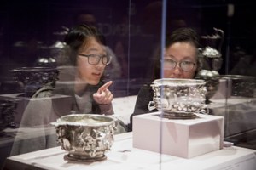
{"label": "ornate silver bowl raised on the white block", "polygon": [[205,81],[197,79],[157,79],[151,84],[154,98],[148,109],[156,108],[169,118],[192,118],[194,113],[206,113],[205,84]]}

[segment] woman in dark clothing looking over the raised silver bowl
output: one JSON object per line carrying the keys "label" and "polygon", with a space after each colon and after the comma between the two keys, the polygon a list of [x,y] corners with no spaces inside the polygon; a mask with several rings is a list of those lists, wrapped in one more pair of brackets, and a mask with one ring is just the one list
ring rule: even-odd
{"label": "woman in dark clothing looking over the raised silver bowl", "polygon": [[[198,48],[199,39],[197,33],[188,27],[179,28],[166,37],[166,48],[162,61],[162,78],[187,78],[195,77],[198,71]],[[154,79],[160,78],[161,60],[155,61]],[[143,85],[137,94],[137,101],[134,112],[131,114],[128,130],[132,130],[132,116],[145,114],[148,111],[148,103],[153,100],[154,92],[150,87],[151,82]]]}

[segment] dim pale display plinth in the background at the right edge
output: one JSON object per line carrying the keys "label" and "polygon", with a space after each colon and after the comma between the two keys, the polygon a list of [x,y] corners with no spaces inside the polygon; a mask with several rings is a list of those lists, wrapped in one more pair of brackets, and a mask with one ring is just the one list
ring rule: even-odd
{"label": "dim pale display plinth in the background at the right edge", "polygon": [[225,137],[244,134],[256,129],[256,98],[230,97],[211,99],[208,108],[213,115],[224,116]]}

